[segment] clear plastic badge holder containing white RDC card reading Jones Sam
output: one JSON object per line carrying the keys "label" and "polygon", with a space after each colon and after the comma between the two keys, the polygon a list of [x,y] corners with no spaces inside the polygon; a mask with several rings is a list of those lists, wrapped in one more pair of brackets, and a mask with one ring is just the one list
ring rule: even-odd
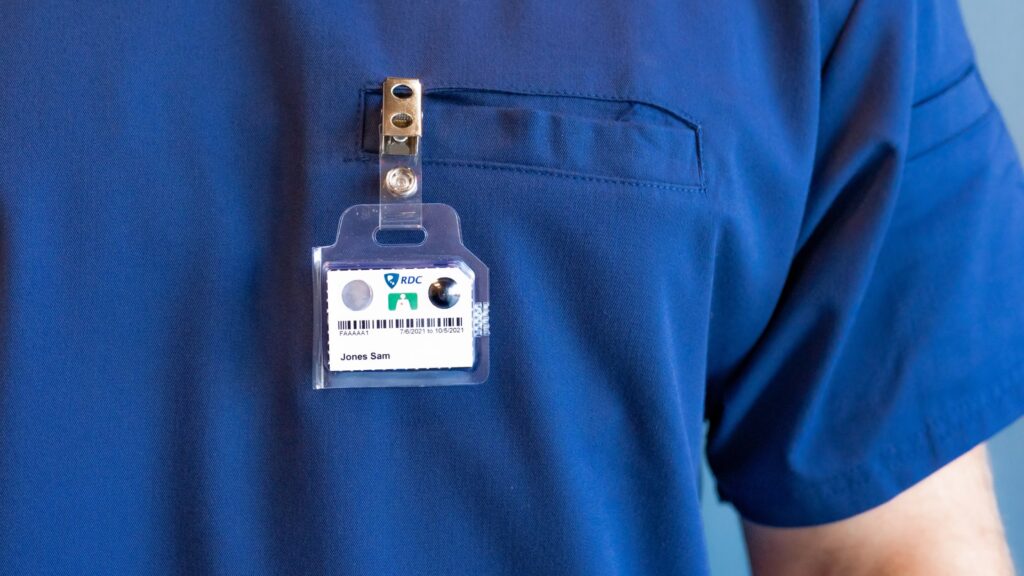
{"label": "clear plastic badge holder containing white RDC card reading Jones Sam", "polygon": [[345,210],[332,246],[313,249],[317,388],[475,384],[487,378],[487,268],[459,216],[423,204],[420,244],[381,244],[380,210]]}

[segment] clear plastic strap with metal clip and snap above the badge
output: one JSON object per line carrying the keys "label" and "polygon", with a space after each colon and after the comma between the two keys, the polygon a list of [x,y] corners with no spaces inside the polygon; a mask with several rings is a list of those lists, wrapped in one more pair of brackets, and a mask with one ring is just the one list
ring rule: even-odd
{"label": "clear plastic strap with metal clip and snap above the badge", "polygon": [[423,227],[421,96],[420,81],[415,78],[384,81],[379,153],[382,230]]}

